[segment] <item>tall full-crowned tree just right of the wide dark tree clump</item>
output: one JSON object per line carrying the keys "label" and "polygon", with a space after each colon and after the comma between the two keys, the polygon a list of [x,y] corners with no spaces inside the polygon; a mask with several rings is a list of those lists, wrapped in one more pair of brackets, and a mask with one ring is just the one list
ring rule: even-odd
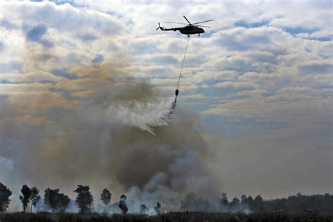
{"label": "tall full-crowned tree just right of the wide dark tree clump", "polygon": [[75,202],[79,206],[79,213],[85,213],[91,210],[93,195],[91,195],[89,189],[89,185],[77,185],[77,189],[74,190],[74,192],[77,193]]}

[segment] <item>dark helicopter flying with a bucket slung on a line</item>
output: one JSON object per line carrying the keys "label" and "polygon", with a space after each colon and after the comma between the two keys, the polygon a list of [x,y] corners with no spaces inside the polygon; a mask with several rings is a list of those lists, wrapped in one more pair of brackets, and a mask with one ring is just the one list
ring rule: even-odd
{"label": "dark helicopter flying with a bucket slung on a line", "polygon": [[182,24],[182,25],[186,25],[184,27],[175,27],[175,28],[170,28],[170,29],[166,29],[164,27],[161,27],[161,25],[159,25],[158,22],[158,27],[156,30],[160,29],[162,31],[179,31],[181,32],[181,34],[187,34],[188,37],[190,37],[190,34],[198,34],[198,36],[200,36],[201,33],[204,33],[204,29],[202,29],[201,27],[208,27],[209,26],[204,26],[204,25],[197,25],[203,22],[210,22],[211,20],[206,20],[203,22],[195,22],[195,23],[191,23],[185,16],[183,16],[185,18],[185,20],[188,22],[188,24],[186,23],[179,23],[179,22],[166,22],[166,23],[174,23],[174,24]]}

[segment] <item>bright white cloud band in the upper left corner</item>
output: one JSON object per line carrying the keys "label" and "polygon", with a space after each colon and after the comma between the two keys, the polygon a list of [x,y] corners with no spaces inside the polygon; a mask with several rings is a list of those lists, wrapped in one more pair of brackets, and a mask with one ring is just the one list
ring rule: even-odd
{"label": "bright white cloud band in the upper left corner", "polygon": [[[74,8],[70,4],[55,5],[51,2],[43,4],[34,2],[25,3],[4,3],[4,17],[7,20],[12,18],[10,12],[20,13],[20,18],[25,22],[44,21],[49,27],[69,32],[70,30],[80,33],[81,30],[96,30],[103,34],[117,34],[122,31],[120,22],[110,15],[91,11],[88,8]],[[6,10],[7,9],[7,10]],[[94,18],[94,19],[91,19]],[[13,19],[12,21],[17,21]],[[112,28],[111,28],[112,27]],[[41,29],[42,31],[42,29]],[[82,32],[81,32],[82,33]]]}

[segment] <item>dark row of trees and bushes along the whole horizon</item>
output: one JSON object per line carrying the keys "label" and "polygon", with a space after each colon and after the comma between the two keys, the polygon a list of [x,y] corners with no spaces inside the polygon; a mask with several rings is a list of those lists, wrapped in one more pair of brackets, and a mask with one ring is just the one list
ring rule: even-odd
{"label": "dark row of trees and bushes along the whole horizon", "polygon": [[[88,185],[77,185],[77,189],[73,192],[77,194],[75,204],[79,209],[79,213],[85,213],[93,210],[93,195],[91,195]],[[27,211],[41,202],[41,195],[36,187],[29,188],[23,185],[21,189],[22,195],[22,210]],[[12,192],[6,185],[0,183],[0,212],[6,211],[11,202]],[[105,188],[100,194],[100,200],[104,204],[104,212],[110,207],[112,194]],[[60,192],[59,189],[47,188],[44,190],[44,207],[52,212],[65,212],[70,205],[70,197]],[[117,207],[126,214],[128,209],[127,197],[122,195]],[[216,206],[217,203],[217,206]],[[223,192],[221,197],[216,197],[213,200],[202,200],[195,194],[188,194],[181,204],[181,211],[215,211],[224,213],[261,213],[261,212],[286,212],[286,213],[302,213],[308,211],[311,214],[333,214],[333,195],[325,193],[325,195],[301,195],[297,193],[295,196],[281,198],[275,200],[263,200],[261,195],[256,197],[242,195],[240,199],[234,197],[233,200],[228,200],[227,194]],[[44,208],[44,210],[45,210]],[[154,207],[157,214],[161,213],[162,205],[157,202]],[[148,208],[145,204],[140,206],[140,214],[147,214]]]}

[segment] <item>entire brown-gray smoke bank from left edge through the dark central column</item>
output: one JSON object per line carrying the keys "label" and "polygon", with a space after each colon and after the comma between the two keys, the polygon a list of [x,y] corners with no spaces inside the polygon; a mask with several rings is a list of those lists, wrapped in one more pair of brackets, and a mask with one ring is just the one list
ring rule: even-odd
{"label": "entire brown-gray smoke bank from left edge through the dark central column", "polygon": [[[41,91],[1,100],[6,121],[0,122],[0,166],[15,171],[1,174],[0,181],[16,195],[27,183],[42,191],[60,188],[72,198],[76,185],[90,185],[96,202],[107,187],[113,197],[126,194],[129,212],[138,212],[141,204],[155,212],[157,202],[181,207],[189,192],[218,196],[221,183],[209,169],[197,115],[174,112],[174,98],[162,98],[148,81],[119,77],[108,64],[74,67],[88,81],[55,85],[58,91],[79,85],[89,92],[79,98]],[[22,109],[38,124],[15,122],[12,115]]]}

